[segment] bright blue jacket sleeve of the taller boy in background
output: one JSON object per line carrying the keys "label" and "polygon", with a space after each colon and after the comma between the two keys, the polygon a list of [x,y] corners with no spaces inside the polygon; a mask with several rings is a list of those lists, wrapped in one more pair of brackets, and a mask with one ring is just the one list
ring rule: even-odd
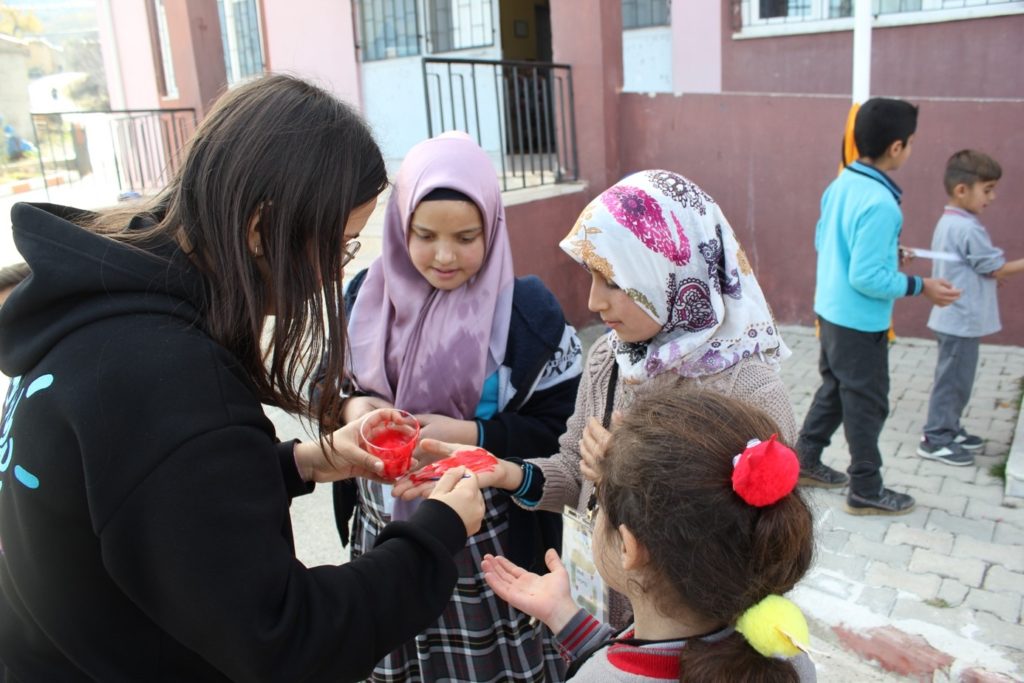
{"label": "bright blue jacket sleeve of the taller boy in background", "polygon": [[850,287],[872,299],[898,299],[921,293],[920,278],[897,269],[902,222],[899,207],[880,203],[865,210],[850,236]]}

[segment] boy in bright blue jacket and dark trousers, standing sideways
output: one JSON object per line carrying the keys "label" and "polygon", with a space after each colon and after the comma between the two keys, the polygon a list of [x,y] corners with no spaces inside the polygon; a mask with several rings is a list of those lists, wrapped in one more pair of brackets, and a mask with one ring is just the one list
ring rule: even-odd
{"label": "boy in bright blue jacket and dark trousers, standing sideways", "polygon": [[[889,415],[893,303],[924,295],[945,306],[959,296],[945,280],[899,271],[902,190],[888,173],[910,157],[916,127],[918,108],[909,102],[864,102],[853,132],[860,159],[825,189],[814,234],[821,386],[797,442],[800,480],[827,488],[849,481],[846,510],[856,515],[901,515],[914,506],[913,498],[882,483],[879,434]],[[821,462],[840,424],[850,447],[849,477]]]}

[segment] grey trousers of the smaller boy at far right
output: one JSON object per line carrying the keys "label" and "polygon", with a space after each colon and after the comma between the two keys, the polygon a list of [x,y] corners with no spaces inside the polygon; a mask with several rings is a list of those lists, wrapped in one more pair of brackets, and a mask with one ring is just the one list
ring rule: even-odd
{"label": "grey trousers of the smaller boy at far right", "polygon": [[978,337],[954,337],[935,333],[939,340],[939,361],[928,399],[925,438],[933,445],[947,445],[961,431],[961,416],[971,398],[978,372]]}

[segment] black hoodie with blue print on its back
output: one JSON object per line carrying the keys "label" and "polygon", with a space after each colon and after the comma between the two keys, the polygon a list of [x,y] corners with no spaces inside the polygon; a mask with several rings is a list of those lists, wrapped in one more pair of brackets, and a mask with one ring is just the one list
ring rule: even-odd
{"label": "black hoodie with blue print on its back", "polygon": [[427,501],[341,566],[294,554],[307,493],[173,244],[15,205],[0,308],[0,680],[360,680],[432,623],[465,545]]}

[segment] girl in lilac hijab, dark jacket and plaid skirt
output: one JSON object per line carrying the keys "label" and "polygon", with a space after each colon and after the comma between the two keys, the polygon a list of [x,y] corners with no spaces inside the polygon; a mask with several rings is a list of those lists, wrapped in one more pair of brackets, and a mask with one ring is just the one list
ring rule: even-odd
{"label": "girl in lilac hijab, dark jacket and plaid skirt", "polygon": [[[557,452],[582,371],[580,341],[536,276],[516,279],[495,167],[464,133],[413,147],[384,219],[382,255],[353,278],[346,422],[382,405],[417,416],[422,438],[477,444],[499,458]],[[415,503],[368,480],[335,489],[342,542],[368,551]],[[480,531],[456,558],[440,620],[383,659],[375,681],[557,681],[563,664],[543,625],[495,596],[484,554],[543,566],[560,518],[485,494]]]}

